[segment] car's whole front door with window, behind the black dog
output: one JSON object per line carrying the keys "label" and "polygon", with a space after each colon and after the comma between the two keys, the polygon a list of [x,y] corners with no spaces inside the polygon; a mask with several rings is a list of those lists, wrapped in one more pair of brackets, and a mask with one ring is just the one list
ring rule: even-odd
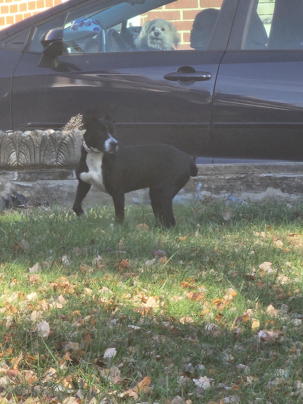
{"label": "car's whole front door with window, behind the black dog", "polygon": [[[42,21],[33,27],[32,38],[13,76],[15,129],[59,128],[88,108],[97,109],[103,116],[111,106],[116,110],[118,139],[123,143],[170,143],[196,156],[210,156],[213,90],[238,0],[225,0],[222,6],[222,0],[134,3],[141,4],[86,1],[81,8],[69,10],[65,23],[62,16],[54,16],[53,24],[48,21],[44,27]],[[193,42],[195,49],[191,48],[194,19],[210,5],[217,17],[208,23],[208,35],[198,31],[198,44]],[[97,21],[106,32],[111,29],[121,33],[122,24],[142,26],[157,18],[177,29],[177,50],[128,48],[115,52],[112,48],[104,52],[101,46],[88,46],[84,41],[81,46],[88,49],[86,52],[81,48],[79,53],[79,46],[69,48],[71,53],[58,57],[56,69],[39,67],[40,38],[50,27],[64,25],[70,44],[75,21],[84,21],[91,27]],[[202,43],[203,38],[208,40]],[[108,43],[104,44],[105,50]],[[116,50],[121,49],[117,46]]]}

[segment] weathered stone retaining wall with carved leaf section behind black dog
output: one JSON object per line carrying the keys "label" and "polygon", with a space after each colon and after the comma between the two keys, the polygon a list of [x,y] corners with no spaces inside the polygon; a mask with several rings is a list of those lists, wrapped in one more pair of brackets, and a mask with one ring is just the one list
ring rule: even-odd
{"label": "weathered stone retaining wall with carved leaf section behind black dog", "polygon": [[[78,183],[75,168],[82,135],[78,129],[0,131],[0,195],[15,190],[32,202],[71,206]],[[181,190],[176,202],[230,196],[253,202],[301,202],[303,196],[303,163],[200,164],[198,168],[198,176]],[[86,206],[111,203],[107,194],[93,188],[85,199]],[[149,203],[147,191],[131,192],[126,203]]]}

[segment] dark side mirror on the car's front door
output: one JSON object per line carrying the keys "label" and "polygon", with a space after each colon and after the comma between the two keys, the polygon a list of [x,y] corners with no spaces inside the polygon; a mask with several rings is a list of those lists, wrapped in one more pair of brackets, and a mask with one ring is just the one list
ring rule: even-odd
{"label": "dark side mirror on the car's front door", "polygon": [[41,44],[44,49],[39,66],[56,68],[58,66],[57,56],[61,56],[64,52],[63,28],[47,31],[41,39]]}

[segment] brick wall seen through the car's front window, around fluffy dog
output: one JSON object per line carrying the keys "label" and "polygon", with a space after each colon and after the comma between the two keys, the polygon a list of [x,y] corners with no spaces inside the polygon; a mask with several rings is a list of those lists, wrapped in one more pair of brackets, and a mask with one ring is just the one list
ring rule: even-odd
{"label": "brick wall seen through the car's front window, around fluffy dog", "polygon": [[196,15],[205,8],[221,8],[222,2],[223,0],[177,0],[141,15],[141,25],[155,18],[171,21],[181,37],[178,49],[191,49],[189,36]]}

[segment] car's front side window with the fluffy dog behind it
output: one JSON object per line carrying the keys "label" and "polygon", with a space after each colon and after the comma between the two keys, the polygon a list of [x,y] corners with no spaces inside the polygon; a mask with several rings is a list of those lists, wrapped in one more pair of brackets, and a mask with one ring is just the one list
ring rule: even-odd
{"label": "car's front side window with the fluffy dog behind it", "polygon": [[107,9],[94,2],[68,14],[65,53],[207,50],[222,2],[145,0]]}

